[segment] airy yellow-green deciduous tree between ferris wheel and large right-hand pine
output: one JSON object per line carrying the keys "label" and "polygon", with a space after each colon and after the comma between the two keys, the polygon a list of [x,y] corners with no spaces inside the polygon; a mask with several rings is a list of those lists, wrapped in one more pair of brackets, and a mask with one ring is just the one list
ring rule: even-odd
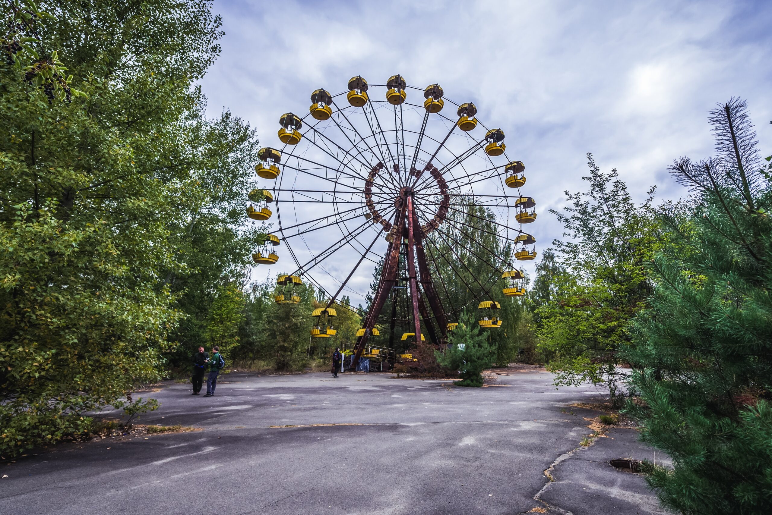
{"label": "airy yellow-green deciduous tree between ferris wheel and large right-hand pine", "polygon": [[550,356],[556,385],[604,382],[621,402],[617,351],[630,342],[631,318],[652,291],[644,263],[658,244],[654,188],[636,205],[616,170],[601,172],[590,154],[587,161],[589,190],[566,192],[569,206],[551,211],[567,240],[554,241],[564,271],[550,264],[549,301],[536,311],[540,350]]}

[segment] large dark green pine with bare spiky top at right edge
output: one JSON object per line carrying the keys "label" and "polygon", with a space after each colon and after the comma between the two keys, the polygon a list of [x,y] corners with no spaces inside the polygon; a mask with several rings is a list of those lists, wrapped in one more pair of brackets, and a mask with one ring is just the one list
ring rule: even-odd
{"label": "large dark green pine with bare spiky top at right edge", "polygon": [[[772,188],[746,104],[710,113],[716,157],[671,167],[694,192],[662,217],[655,292],[621,352],[636,369],[628,412],[672,457],[648,476],[682,513],[772,509]],[[767,157],[767,161],[770,157]],[[764,166],[762,166],[764,165]]]}

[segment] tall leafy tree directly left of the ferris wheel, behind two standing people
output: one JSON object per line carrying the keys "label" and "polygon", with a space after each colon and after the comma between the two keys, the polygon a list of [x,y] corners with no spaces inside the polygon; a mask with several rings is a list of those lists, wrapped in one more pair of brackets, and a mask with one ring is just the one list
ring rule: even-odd
{"label": "tall leafy tree directly left of the ferris wheel, behind two standing people", "polygon": [[255,131],[227,110],[218,119],[195,119],[185,131],[180,153],[191,172],[175,202],[179,220],[171,220],[168,231],[169,244],[187,269],[163,276],[185,315],[170,336],[180,345],[169,360],[187,366],[188,356],[208,339],[207,318],[218,292],[246,282],[252,251],[270,225],[249,220],[244,209],[256,187]]}

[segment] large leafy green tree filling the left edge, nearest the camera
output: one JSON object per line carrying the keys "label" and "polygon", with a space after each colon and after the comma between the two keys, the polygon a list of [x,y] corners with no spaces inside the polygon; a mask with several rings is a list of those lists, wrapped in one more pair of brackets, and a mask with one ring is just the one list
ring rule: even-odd
{"label": "large leafy green tree filling the left edge, nearest the camera", "polygon": [[40,20],[34,45],[58,53],[38,58],[65,63],[84,95],[62,97],[59,82],[52,99],[0,67],[4,454],[83,429],[83,412],[163,373],[181,316],[164,278],[188,269],[174,234],[189,221],[178,200],[195,176],[183,155],[205,105],[195,82],[222,35],[205,1],[39,8],[57,19]]}

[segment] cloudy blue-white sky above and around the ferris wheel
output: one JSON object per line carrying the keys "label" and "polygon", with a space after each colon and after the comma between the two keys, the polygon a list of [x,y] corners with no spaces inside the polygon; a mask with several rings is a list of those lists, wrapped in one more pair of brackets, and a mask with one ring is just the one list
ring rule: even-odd
{"label": "cloudy blue-white sky above and around the ferris wheel", "polygon": [[[222,56],[202,80],[212,116],[232,109],[278,146],[279,116],[306,113],[313,89],[340,93],[357,75],[438,82],[526,163],[541,248],[561,233],[550,208],[584,189],[587,152],[636,198],[653,184],[678,198],[667,166],[709,155],[706,111],[741,96],[772,153],[772,2],[221,0],[215,12]],[[342,277],[346,260],[356,262],[337,264]],[[370,277],[363,266],[352,284]]]}

